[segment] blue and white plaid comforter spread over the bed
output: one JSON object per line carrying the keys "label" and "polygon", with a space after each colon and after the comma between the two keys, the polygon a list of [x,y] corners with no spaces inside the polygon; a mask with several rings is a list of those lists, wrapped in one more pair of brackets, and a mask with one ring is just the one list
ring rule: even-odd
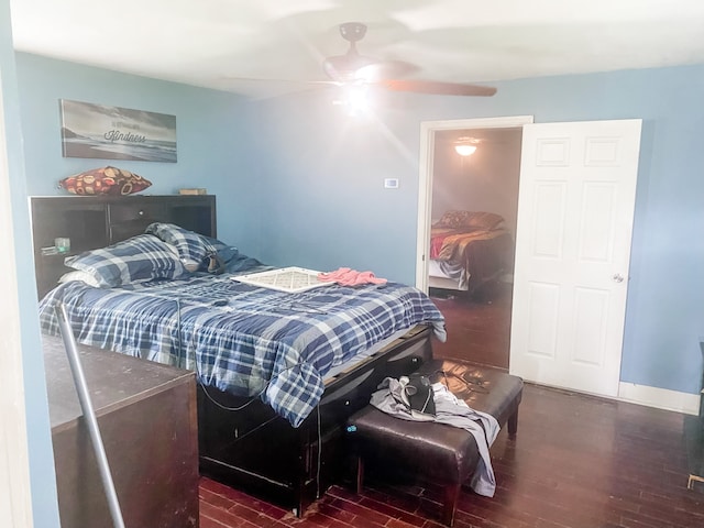
{"label": "blue and white plaid comforter spread over the bed", "polygon": [[443,317],[410,286],[324,286],[298,294],[248,286],[229,275],[99,289],[59,285],[40,302],[45,333],[66,307],[78,342],[194,370],[199,383],[261,397],[294,427],[318,405],[323,376],[404,328]]}

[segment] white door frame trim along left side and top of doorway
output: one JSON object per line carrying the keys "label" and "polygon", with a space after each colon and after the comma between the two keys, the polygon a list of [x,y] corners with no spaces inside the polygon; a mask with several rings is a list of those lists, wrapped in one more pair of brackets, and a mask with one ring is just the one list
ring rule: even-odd
{"label": "white door frame trim along left side and top of doorway", "polygon": [[436,132],[464,129],[513,129],[531,124],[532,116],[503,118],[469,118],[420,123],[420,157],[418,167],[418,228],[416,239],[416,287],[428,293],[428,258],[432,209],[432,177]]}

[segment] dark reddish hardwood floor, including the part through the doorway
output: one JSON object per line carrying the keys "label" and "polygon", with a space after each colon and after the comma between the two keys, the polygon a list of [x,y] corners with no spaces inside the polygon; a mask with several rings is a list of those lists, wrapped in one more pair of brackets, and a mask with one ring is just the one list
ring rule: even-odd
{"label": "dark reddish hardwood floor, including the part through the doorway", "polygon": [[[436,355],[506,367],[509,315],[501,305],[510,297],[491,300],[462,310],[463,299],[438,299],[450,315],[450,339]],[[526,384],[518,435],[512,440],[502,431],[491,452],[496,494],[463,490],[457,528],[704,527],[704,484],[686,488],[681,414]],[[370,471],[364,492],[352,490],[333,486],[299,519],[201,477],[200,527],[442,526],[437,488],[375,480]]]}

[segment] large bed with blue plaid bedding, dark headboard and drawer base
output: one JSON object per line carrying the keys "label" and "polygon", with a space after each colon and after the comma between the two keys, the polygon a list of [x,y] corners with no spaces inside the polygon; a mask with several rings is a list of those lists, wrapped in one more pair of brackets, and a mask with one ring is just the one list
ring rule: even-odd
{"label": "large bed with blue plaid bedding, dark headboard and drawer base", "polygon": [[[35,230],[51,231],[50,217],[33,208]],[[62,302],[79,342],[196,371],[201,471],[300,515],[339,479],[346,417],[384,377],[431,358],[442,315],[396,283],[253,286],[237,278],[272,268],[210,237],[215,229],[148,217],[120,230],[125,240],[66,258],[40,301],[43,332],[57,332]]]}

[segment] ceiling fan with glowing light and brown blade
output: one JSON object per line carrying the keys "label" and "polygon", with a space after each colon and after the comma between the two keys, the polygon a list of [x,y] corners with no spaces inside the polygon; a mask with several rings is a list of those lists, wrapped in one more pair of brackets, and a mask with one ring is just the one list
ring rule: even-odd
{"label": "ceiling fan with glowing light and brown blade", "polygon": [[350,43],[344,55],[336,55],[322,62],[323,72],[333,82],[362,82],[378,85],[393,91],[411,91],[416,94],[435,94],[443,96],[479,96],[491,97],[496,88],[460,82],[443,82],[436,80],[407,79],[406,77],[418,70],[418,67],[403,61],[378,61],[361,55],[356,43],[366,34],[366,25],[361,22],[345,22],[340,24],[340,35]]}

